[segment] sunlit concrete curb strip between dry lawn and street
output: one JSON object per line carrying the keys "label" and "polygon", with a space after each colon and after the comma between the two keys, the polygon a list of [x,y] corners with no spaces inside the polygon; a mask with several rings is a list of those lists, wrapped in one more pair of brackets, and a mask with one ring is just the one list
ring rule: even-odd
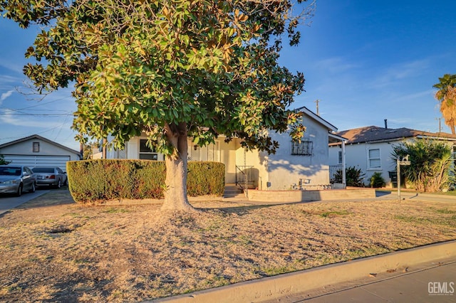
{"label": "sunlit concrete curb strip between dry lawn and street", "polygon": [[300,294],[339,282],[367,278],[370,273],[401,270],[413,265],[452,257],[456,258],[456,240],[147,302],[262,302]]}

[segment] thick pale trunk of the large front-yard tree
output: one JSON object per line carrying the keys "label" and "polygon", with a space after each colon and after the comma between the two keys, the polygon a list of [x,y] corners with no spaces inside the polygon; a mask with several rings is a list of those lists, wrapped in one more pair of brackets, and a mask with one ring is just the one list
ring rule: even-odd
{"label": "thick pale trunk of the large front-yard tree", "polygon": [[167,139],[175,152],[166,156],[165,201],[163,210],[193,212],[187,198],[187,126],[185,123],[166,126]]}

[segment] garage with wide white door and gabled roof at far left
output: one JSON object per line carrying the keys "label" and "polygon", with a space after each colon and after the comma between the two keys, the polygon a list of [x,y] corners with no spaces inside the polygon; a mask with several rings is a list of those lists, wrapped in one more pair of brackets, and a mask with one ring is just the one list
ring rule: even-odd
{"label": "garage with wide white door and gabled roof at far left", "polygon": [[0,154],[11,164],[36,166],[58,166],[66,171],[67,161],[81,160],[81,153],[69,147],[33,134],[29,137],[0,144]]}

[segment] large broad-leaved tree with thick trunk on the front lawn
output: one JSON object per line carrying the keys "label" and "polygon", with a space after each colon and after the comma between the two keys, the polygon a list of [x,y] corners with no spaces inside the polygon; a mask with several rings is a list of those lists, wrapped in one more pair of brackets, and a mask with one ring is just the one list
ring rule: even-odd
{"label": "large broad-leaved tree with thick trunk on the front lawn", "polygon": [[[289,110],[304,76],[277,63],[284,37],[313,3],[289,0],[2,0],[0,11],[26,28],[46,28],[24,72],[38,92],[74,85],[73,128],[125,142],[146,132],[166,154],[164,209],[187,201],[187,137],[203,146],[219,134],[247,149],[274,152],[267,132],[302,137]],[[296,9],[298,14],[296,14]]]}

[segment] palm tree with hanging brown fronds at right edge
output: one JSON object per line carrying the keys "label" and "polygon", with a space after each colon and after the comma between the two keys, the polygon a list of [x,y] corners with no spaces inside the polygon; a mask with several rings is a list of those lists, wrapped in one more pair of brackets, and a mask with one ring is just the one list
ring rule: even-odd
{"label": "palm tree with hanging brown fronds at right edge", "polygon": [[452,134],[456,134],[456,75],[445,74],[439,78],[439,81],[439,83],[432,85],[438,89],[435,92],[435,99],[440,102],[440,112],[445,119],[445,124],[450,127]]}

